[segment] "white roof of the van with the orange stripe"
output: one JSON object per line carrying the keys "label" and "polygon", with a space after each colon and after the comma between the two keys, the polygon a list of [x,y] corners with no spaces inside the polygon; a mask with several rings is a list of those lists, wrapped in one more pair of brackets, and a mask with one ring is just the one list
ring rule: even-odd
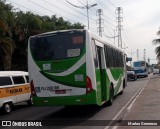
{"label": "white roof of the van with the orange stripe", "polygon": [[28,75],[28,72],[24,72],[24,71],[0,71],[0,77],[2,77],[2,76],[18,76],[18,75]]}

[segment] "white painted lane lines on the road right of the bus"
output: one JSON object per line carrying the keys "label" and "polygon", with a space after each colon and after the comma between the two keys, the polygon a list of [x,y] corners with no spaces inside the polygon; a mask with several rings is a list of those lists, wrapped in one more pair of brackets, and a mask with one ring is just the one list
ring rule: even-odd
{"label": "white painted lane lines on the road right of the bus", "polygon": [[[142,91],[144,90],[144,88],[147,86],[148,82],[150,80],[150,77],[149,79],[146,81],[146,83],[143,85],[143,87],[140,87],[138,89],[138,91],[132,96],[132,98],[126,103],[125,106],[123,106],[123,108],[115,115],[115,117],[112,119],[113,121],[116,120],[120,114],[124,111],[124,109],[127,108],[127,112],[130,111],[131,107],[133,106],[134,102],[137,100],[137,98],[139,97],[139,95],[142,93]],[[132,102],[131,102],[132,101]],[[111,125],[113,122],[110,122],[109,125]],[[117,129],[118,126],[114,126],[114,127],[110,127],[110,126],[106,126],[104,129]]]}

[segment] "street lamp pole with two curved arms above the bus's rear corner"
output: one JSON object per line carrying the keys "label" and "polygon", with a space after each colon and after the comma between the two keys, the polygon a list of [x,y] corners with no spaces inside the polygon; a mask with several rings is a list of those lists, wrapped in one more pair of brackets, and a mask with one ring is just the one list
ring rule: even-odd
{"label": "street lamp pole with two curved arms above the bus's rear corner", "polygon": [[94,6],[96,6],[97,4],[92,4],[92,5],[88,5],[88,0],[87,0],[87,5],[86,6],[77,6],[77,5],[74,5],[72,3],[70,3],[69,1],[66,0],[67,3],[69,3],[70,5],[76,7],[76,8],[81,8],[81,9],[87,9],[87,21],[88,21],[88,30],[89,30],[89,12],[88,10]]}

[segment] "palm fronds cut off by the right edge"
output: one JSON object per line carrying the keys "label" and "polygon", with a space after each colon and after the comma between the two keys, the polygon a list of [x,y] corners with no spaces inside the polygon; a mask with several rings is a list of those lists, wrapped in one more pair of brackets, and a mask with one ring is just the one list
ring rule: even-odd
{"label": "palm fronds cut off by the right edge", "polygon": [[[160,35],[160,30],[157,32],[157,35]],[[159,44],[159,46],[156,47],[155,52],[156,52],[158,61],[160,61],[160,38],[154,39],[153,40],[153,44],[154,45],[158,45]]]}

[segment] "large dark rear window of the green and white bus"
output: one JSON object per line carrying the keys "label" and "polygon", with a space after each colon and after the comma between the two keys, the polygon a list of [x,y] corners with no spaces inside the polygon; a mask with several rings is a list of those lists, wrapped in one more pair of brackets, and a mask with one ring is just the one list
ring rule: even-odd
{"label": "large dark rear window of the green and white bus", "polygon": [[37,61],[61,60],[81,55],[84,33],[52,34],[30,39],[32,56]]}

